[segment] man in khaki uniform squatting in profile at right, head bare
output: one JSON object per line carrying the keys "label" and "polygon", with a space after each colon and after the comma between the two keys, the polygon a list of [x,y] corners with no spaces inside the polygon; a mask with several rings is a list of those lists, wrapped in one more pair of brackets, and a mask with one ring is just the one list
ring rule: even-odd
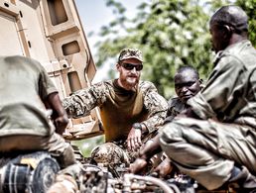
{"label": "man in khaki uniform squatting in profile at right, head bare", "polygon": [[178,168],[213,190],[228,184],[256,189],[256,50],[245,12],[221,7],[210,19],[214,69],[183,116],[164,126],[131,166],[138,172],[160,145]]}

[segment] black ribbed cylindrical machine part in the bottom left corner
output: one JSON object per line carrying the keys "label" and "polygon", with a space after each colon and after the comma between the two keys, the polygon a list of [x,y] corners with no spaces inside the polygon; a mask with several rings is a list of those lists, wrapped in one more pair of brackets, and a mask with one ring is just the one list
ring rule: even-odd
{"label": "black ribbed cylindrical machine part in the bottom left corner", "polygon": [[44,193],[59,170],[59,164],[48,152],[19,155],[0,169],[0,192]]}

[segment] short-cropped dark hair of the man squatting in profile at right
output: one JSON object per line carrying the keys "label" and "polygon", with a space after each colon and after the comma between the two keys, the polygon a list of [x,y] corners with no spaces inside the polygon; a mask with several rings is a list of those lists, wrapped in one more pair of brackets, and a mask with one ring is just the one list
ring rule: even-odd
{"label": "short-cropped dark hair of the man squatting in profile at right", "polygon": [[209,24],[231,26],[237,33],[248,32],[248,17],[242,8],[235,5],[227,5],[218,9],[211,16]]}

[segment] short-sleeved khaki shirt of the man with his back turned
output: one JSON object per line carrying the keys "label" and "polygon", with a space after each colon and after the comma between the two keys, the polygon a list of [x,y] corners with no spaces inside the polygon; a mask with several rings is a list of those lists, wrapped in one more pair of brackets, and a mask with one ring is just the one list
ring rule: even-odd
{"label": "short-sleeved khaki shirt of the man with his back turned", "polygon": [[53,134],[41,98],[57,89],[43,66],[21,56],[0,59],[0,136]]}

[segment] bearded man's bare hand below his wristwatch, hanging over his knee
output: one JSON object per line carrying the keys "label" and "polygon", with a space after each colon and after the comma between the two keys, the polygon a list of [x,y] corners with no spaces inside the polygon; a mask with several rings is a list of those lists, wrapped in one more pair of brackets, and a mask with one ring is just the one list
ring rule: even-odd
{"label": "bearded man's bare hand below his wristwatch, hanging over his knee", "polygon": [[141,133],[142,131],[139,129],[132,128],[128,138],[127,138],[127,147],[128,150],[136,150],[139,148],[142,143],[141,143]]}

